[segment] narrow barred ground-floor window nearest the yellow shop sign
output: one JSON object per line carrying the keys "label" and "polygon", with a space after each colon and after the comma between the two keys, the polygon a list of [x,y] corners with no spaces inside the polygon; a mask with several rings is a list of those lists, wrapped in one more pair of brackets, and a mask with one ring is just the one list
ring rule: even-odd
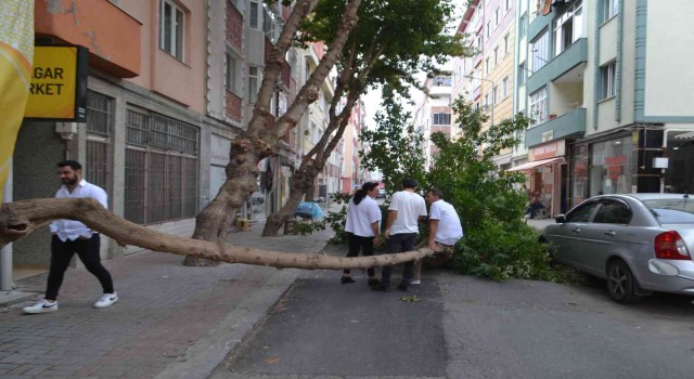
{"label": "narrow barred ground-floor window nearest the yellow shop sign", "polygon": [[111,193],[111,139],[113,132],[113,101],[103,94],[87,94],[87,157],[85,179]]}

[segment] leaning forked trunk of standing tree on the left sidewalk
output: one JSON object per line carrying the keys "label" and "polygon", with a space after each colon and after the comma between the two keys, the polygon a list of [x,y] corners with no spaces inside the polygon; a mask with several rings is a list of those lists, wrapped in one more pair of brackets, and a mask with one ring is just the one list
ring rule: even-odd
{"label": "leaning forked trunk of standing tree on the left sidewalk", "polygon": [[[245,204],[256,188],[258,162],[277,151],[281,134],[279,131],[291,130],[296,127],[299,117],[308,105],[318,99],[321,83],[340,56],[349,32],[357,23],[357,10],[361,0],[349,0],[347,3],[342,23],[335,32],[335,38],[330,49],[300,89],[287,112],[277,122],[267,122],[269,117],[272,116],[270,101],[274,93],[284,56],[291,47],[301,19],[312,12],[317,3],[318,0],[297,1],[282,29],[278,43],[272,47],[248,129],[231,143],[229,165],[227,165],[226,169],[227,181],[217,196],[197,214],[195,232],[193,233],[194,239],[223,240],[227,234],[226,225],[229,222],[228,220]],[[193,257],[187,257],[183,262],[185,265],[205,265],[205,263]]]}

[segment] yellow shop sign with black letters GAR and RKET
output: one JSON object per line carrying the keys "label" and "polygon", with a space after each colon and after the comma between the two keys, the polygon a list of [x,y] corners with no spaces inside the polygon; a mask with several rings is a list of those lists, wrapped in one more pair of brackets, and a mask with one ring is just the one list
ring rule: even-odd
{"label": "yellow shop sign with black letters GAR and RKET", "polygon": [[78,45],[34,50],[34,71],[26,118],[85,122],[89,52]]}

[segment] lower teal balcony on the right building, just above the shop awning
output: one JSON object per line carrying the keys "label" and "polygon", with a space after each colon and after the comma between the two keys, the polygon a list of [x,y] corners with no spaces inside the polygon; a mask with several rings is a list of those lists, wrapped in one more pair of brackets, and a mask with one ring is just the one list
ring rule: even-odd
{"label": "lower teal balcony on the right building, just above the shop awning", "polygon": [[563,140],[586,133],[586,108],[577,108],[553,120],[542,122],[525,132],[525,146]]}

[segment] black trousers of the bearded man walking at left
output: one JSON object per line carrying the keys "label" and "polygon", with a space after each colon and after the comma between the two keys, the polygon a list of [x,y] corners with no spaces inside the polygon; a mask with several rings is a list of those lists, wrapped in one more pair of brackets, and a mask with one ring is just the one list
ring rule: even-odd
{"label": "black trousers of the bearded man walking at left", "polygon": [[51,269],[48,274],[48,285],[46,286],[46,299],[57,299],[57,291],[63,285],[65,270],[69,265],[75,252],[79,260],[85,263],[85,267],[92,275],[97,276],[101,283],[104,293],[113,293],[113,279],[108,271],[101,265],[99,248],[101,238],[99,233],[92,234],[91,238],[77,238],[75,240],[62,241],[56,235],[51,239]]}

